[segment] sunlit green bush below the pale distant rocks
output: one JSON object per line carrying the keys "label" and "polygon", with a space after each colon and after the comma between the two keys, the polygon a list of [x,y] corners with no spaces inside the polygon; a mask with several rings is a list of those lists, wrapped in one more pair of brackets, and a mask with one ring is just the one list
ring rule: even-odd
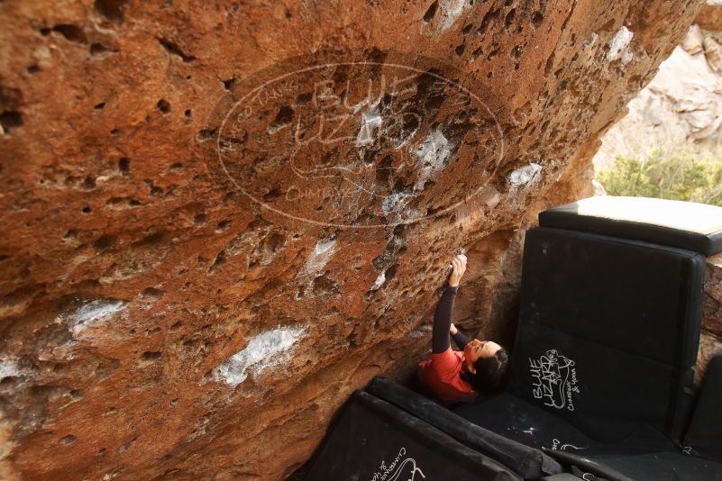
{"label": "sunlit green bush below the pale distant rocks", "polygon": [[658,197],[722,206],[722,159],[653,150],[645,159],[615,157],[596,174],[609,195]]}

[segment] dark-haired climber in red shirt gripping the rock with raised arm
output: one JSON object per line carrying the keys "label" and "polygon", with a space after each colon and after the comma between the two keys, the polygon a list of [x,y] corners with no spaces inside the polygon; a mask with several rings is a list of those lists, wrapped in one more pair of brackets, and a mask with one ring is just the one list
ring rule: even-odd
{"label": "dark-haired climber in red shirt gripping the rock with raised arm", "polygon": [[[493,340],[468,340],[452,323],[453,301],[465,271],[466,256],[454,257],[449,284],[434,313],[431,358],[417,368],[420,389],[447,405],[499,394],[510,374],[507,349]],[[452,350],[450,334],[461,351]]]}

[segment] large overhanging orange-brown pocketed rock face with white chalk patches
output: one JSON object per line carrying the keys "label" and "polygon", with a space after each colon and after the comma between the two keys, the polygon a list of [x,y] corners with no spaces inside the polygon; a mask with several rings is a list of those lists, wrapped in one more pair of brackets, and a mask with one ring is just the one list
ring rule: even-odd
{"label": "large overhanging orange-brown pocketed rock face with white chalk patches", "polygon": [[280,479],[462,249],[508,337],[523,231],[699,5],[0,2],[0,477]]}

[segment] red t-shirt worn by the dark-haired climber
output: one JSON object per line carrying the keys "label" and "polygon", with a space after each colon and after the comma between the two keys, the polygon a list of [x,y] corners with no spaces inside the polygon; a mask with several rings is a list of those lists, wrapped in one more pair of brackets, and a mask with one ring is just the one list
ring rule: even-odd
{"label": "red t-shirt worn by the dark-haired climber", "polygon": [[471,389],[460,376],[464,353],[458,350],[444,350],[441,354],[432,353],[430,359],[418,363],[418,375],[434,394],[443,401],[459,401],[475,397]]}

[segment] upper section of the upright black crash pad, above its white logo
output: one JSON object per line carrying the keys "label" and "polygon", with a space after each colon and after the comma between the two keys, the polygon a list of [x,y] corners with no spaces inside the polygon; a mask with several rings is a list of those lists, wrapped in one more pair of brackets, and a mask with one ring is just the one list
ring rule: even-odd
{"label": "upper section of the upright black crash pad, above its white logo", "polygon": [[519,329],[541,323],[690,368],[697,359],[706,264],[690,250],[533,229],[524,247]]}

